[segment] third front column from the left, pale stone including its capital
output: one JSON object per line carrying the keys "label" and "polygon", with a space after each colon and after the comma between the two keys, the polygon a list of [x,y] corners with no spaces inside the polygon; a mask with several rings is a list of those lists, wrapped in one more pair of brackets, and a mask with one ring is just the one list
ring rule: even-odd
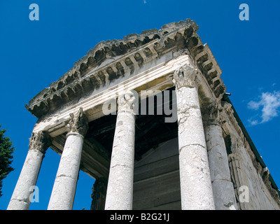
{"label": "third front column from the left, pale stone including its capital", "polygon": [[107,186],[106,210],[132,209],[135,100],[136,97],[131,91],[118,97],[118,116]]}

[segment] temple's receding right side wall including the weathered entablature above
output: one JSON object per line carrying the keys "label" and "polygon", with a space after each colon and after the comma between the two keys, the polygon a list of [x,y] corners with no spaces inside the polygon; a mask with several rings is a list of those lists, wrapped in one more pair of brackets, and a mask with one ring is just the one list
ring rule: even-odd
{"label": "temple's receding right side wall including the weathered entablature above", "polygon": [[272,186],[272,177],[228,102],[223,103],[221,120],[238,209],[279,210],[279,193]]}

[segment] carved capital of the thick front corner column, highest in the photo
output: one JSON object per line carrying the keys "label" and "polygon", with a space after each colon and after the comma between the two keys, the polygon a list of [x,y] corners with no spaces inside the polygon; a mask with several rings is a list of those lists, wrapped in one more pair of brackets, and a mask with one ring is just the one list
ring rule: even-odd
{"label": "carved capital of the thick front corner column, highest in the photo", "polygon": [[197,69],[193,66],[185,64],[174,71],[173,83],[176,89],[183,86],[197,88],[200,80],[197,78]]}

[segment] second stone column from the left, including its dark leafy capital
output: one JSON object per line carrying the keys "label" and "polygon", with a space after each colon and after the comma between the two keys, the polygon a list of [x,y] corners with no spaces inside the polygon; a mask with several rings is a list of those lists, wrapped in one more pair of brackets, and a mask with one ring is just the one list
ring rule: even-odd
{"label": "second stone column from the left, including its dark leafy capital", "polygon": [[76,116],[70,114],[68,134],[52,188],[48,210],[71,210],[76,193],[83,138],[88,130],[87,117],[80,108]]}

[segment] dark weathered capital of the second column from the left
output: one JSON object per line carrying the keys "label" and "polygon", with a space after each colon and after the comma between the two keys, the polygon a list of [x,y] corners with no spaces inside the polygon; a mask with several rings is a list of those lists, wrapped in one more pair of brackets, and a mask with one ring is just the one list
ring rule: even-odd
{"label": "dark weathered capital of the second column from the left", "polygon": [[70,113],[70,120],[69,123],[66,125],[67,135],[78,133],[81,136],[85,137],[85,134],[88,130],[88,120],[85,113],[83,113],[83,108],[80,107],[78,113],[74,115]]}

